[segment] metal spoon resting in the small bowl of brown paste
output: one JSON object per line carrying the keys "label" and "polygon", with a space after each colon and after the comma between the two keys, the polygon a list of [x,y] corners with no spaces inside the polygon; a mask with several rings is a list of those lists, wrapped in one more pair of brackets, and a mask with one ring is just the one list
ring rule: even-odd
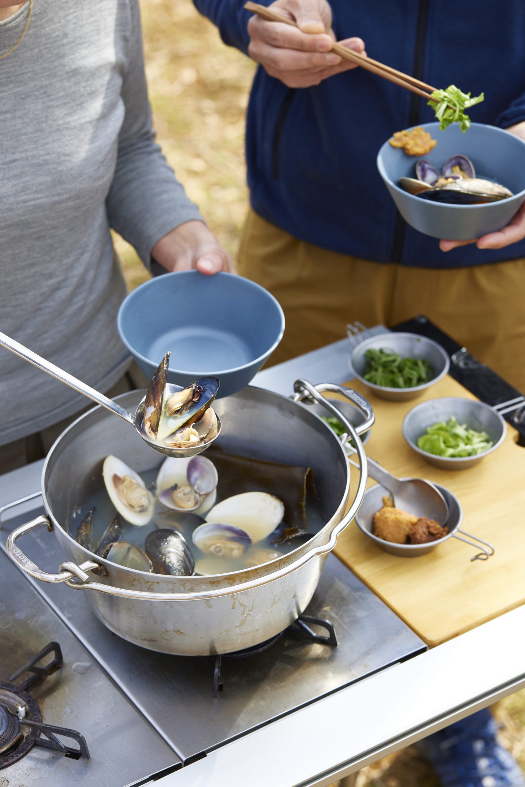
{"label": "metal spoon resting in the small bowl of brown paste", "polygon": [[[349,459],[350,464],[356,463]],[[449,520],[449,505],[442,493],[424,478],[396,478],[380,464],[367,456],[368,475],[390,492],[396,508],[414,514],[420,519],[434,519],[442,527]],[[358,465],[357,465],[358,467]]]}

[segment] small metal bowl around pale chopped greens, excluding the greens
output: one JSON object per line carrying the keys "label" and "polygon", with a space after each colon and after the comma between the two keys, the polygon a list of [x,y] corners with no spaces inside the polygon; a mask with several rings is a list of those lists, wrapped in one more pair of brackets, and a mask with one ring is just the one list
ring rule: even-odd
{"label": "small metal bowl around pale chopped greens, excluding the greens", "polygon": [[[476,454],[476,456],[435,456],[433,453],[422,451],[417,445],[417,438],[425,434],[427,427],[438,421],[448,421],[450,416],[455,416],[457,422],[466,424],[469,429],[486,432],[493,442],[492,448]],[[477,399],[463,399],[461,397],[442,397],[421,402],[408,412],[403,421],[403,437],[423,459],[434,467],[442,470],[465,470],[500,447],[507,434],[507,424],[490,405]]]}

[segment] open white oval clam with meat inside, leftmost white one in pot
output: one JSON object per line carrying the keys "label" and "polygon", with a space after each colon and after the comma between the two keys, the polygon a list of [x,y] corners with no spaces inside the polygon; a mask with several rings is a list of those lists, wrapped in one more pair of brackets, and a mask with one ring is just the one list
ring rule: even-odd
{"label": "open white oval clam with meat inside, leftmost white one in pot", "polygon": [[153,516],[155,500],[135,470],[117,456],[109,454],[102,466],[105,488],[119,514],[131,525],[147,525]]}

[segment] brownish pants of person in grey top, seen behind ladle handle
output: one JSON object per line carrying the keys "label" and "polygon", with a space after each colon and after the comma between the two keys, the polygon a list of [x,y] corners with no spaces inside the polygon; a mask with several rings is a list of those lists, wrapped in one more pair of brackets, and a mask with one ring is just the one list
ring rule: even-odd
{"label": "brownish pants of person in grey top, seen behind ladle handle", "polygon": [[[135,390],[135,388],[143,388],[148,386],[149,381],[146,376],[142,374],[137,364],[133,362],[131,368],[126,372],[119,382],[116,382],[113,388],[105,391],[105,395],[109,399],[120,396],[120,393],[128,393],[128,391]],[[24,464],[36,462],[43,459],[55,442],[57,437],[73,423],[83,412],[91,410],[94,407],[94,402],[88,403],[85,408],[76,412],[74,416],[69,416],[59,423],[54,423],[52,427],[48,427],[41,432],[29,434],[27,438],[15,440],[7,445],[0,445],[0,475],[9,473],[11,470],[17,470],[17,467],[23,467]]]}

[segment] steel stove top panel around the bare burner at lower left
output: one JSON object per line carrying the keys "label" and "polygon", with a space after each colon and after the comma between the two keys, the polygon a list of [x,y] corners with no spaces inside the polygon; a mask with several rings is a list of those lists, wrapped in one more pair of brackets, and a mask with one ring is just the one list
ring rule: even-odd
{"label": "steel stove top panel around the bare burner at lower left", "polygon": [[[2,541],[5,535],[2,531]],[[51,537],[53,538],[53,537]],[[46,600],[35,593],[0,551],[0,681],[31,660],[51,641],[61,646],[64,662],[53,674],[28,689],[49,725],[77,730],[86,739],[90,759],[72,759],[33,746],[17,762],[2,768],[0,784],[112,785],[127,787],[165,769],[181,767],[165,741],[120,692],[91,653],[62,623]],[[51,656],[43,660],[50,661]],[[14,683],[28,678],[21,675]],[[74,741],[61,739],[72,745]]]}

